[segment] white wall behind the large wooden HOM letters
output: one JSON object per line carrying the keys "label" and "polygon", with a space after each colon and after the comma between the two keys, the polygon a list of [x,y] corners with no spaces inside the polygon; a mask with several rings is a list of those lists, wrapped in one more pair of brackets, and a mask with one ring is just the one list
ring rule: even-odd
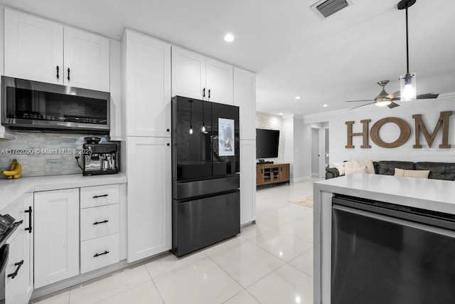
{"label": "white wall behind the large wooden HOM letters", "polygon": [[[414,140],[414,119],[412,115],[422,114],[422,119],[427,125],[429,132],[432,132],[439,112],[455,111],[455,97],[438,98],[437,100],[416,101],[410,103],[400,103],[400,107],[389,109],[367,106],[347,112],[332,112],[325,115],[306,115],[304,123],[311,124],[314,122],[328,122],[329,126],[329,145],[330,161],[342,162],[348,159],[373,159],[373,160],[409,160],[409,161],[428,161],[428,162],[455,162],[455,115],[451,115],[449,124],[449,144],[451,149],[440,149],[441,131],[434,140],[433,146],[428,147],[423,135],[420,136],[420,143],[424,146],[422,149],[414,149],[412,145]],[[370,149],[362,149],[361,137],[353,137],[354,149],[346,149],[347,144],[347,127],[345,122],[353,120],[353,132],[362,132],[360,120],[370,119],[369,128],[375,122],[385,117],[400,117],[405,120],[411,127],[411,135],[404,145],[387,149],[378,147],[370,140]],[[399,129],[395,124],[387,123],[379,132],[380,138],[385,142],[393,142],[399,135]],[[331,166],[332,167],[332,166]]]}

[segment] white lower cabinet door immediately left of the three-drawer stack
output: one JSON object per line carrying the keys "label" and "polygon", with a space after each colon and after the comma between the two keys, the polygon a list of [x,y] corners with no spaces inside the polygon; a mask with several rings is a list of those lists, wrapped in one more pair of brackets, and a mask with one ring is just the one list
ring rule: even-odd
{"label": "white lower cabinet door immediately left of the three-drawer stack", "polygon": [[79,274],[79,189],[35,192],[35,288]]}

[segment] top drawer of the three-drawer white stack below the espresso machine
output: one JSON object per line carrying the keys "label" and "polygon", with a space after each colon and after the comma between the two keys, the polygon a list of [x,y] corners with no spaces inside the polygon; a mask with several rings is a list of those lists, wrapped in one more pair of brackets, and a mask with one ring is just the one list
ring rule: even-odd
{"label": "top drawer of the three-drawer white stack below the espresso machine", "polygon": [[80,188],[80,209],[118,204],[118,202],[118,184]]}

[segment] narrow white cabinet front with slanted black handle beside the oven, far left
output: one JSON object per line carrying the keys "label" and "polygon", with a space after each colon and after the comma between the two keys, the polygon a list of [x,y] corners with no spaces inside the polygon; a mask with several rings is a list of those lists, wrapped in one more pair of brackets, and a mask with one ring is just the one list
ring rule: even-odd
{"label": "narrow white cabinet front with slanted black handle beside the oven, far left", "polygon": [[[18,227],[18,229],[23,229],[23,224]],[[9,243],[9,258],[8,258],[8,263],[6,264],[5,268],[5,296],[6,299],[9,299],[11,295],[14,293],[14,290],[16,290],[16,287],[21,281],[21,278],[24,273],[25,266],[24,263],[24,254],[23,254],[23,233],[18,234],[16,238],[13,241],[8,241]],[[22,263],[21,263],[22,262]],[[19,265],[16,265],[16,263],[21,263],[21,267],[18,269]],[[15,273],[16,269],[18,269],[17,275],[14,276],[14,278],[9,275]]]}

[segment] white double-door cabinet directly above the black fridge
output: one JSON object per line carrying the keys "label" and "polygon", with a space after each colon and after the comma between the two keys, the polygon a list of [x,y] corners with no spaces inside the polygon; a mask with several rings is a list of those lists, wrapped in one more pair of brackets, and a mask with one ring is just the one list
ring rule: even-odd
{"label": "white double-door cabinet directly above the black fridge", "polygon": [[172,95],[233,105],[232,65],[173,46]]}

